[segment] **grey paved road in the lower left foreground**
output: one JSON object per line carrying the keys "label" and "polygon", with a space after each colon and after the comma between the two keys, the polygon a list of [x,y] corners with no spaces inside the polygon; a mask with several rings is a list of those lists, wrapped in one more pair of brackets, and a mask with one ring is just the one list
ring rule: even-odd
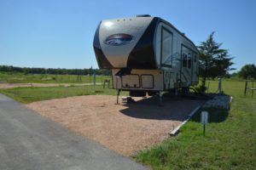
{"label": "grey paved road in the lower left foreground", "polygon": [[[85,125],[84,125],[85,126]],[[147,169],[0,94],[1,170]]]}

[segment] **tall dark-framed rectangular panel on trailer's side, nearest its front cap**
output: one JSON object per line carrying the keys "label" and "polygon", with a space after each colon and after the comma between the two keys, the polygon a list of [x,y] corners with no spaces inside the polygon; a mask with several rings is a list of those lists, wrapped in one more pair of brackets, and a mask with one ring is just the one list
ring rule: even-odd
{"label": "tall dark-framed rectangular panel on trailer's side, nearest its front cap", "polygon": [[172,66],[172,32],[162,27],[161,32],[161,64]]}

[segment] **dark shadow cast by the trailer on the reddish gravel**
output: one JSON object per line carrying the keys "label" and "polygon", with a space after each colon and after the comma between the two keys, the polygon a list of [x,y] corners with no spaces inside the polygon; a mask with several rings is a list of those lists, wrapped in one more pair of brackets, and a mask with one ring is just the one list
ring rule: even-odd
{"label": "dark shadow cast by the trailer on the reddish gravel", "polygon": [[203,100],[164,96],[163,106],[159,106],[159,98],[150,97],[125,104],[127,108],[120,112],[125,116],[141,119],[184,121],[190,111],[204,102]]}

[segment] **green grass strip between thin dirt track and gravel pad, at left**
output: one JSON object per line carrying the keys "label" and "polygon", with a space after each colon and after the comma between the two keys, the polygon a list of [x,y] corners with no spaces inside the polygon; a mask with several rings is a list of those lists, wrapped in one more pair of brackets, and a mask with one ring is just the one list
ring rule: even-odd
{"label": "green grass strip between thin dirt track and gravel pad, at left", "polygon": [[[66,98],[70,96],[108,94],[115,95],[116,91],[102,86],[71,86],[71,87],[49,87],[49,88],[9,88],[0,89],[0,93],[9,96],[21,103],[27,104],[34,101],[46,99]],[[124,95],[127,93],[122,92]]]}

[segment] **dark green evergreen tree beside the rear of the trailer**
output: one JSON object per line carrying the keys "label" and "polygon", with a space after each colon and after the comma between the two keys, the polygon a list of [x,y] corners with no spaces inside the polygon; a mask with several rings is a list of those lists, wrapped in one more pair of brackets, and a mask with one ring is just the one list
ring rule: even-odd
{"label": "dark green evergreen tree beside the rear of the trailer", "polygon": [[222,43],[215,42],[213,39],[214,31],[207,38],[206,42],[201,42],[198,46],[199,50],[199,70],[201,81],[201,91],[206,90],[206,80],[208,77],[224,77],[229,71],[234,70],[230,68],[234,63],[231,61],[227,49],[222,49]]}

